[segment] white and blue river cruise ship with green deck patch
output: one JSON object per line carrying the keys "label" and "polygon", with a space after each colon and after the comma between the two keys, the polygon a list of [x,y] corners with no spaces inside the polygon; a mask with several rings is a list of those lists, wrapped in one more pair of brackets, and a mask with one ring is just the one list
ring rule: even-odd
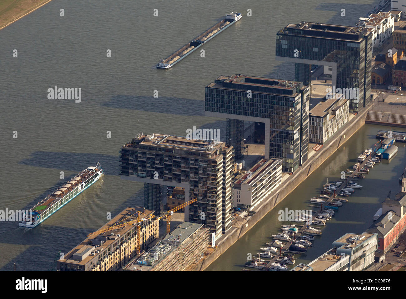
{"label": "white and blue river cruise ship with green deck patch", "polygon": [[76,177],[67,181],[52,194],[49,194],[45,199],[32,207],[28,215],[23,215],[24,221],[19,221],[19,226],[36,227],[46,218],[54,214],[61,207],[78,196],[85,189],[95,183],[103,174],[103,168],[97,163],[96,166],[90,166],[80,172]]}

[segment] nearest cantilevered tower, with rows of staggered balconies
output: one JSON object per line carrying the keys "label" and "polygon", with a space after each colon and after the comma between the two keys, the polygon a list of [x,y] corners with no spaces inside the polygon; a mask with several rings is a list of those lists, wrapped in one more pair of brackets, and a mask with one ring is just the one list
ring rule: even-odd
{"label": "nearest cantilevered tower, with rows of staggered balconies", "polygon": [[184,188],[185,202],[199,199],[185,207],[185,220],[206,225],[216,238],[231,228],[232,146],[138,133],[120,154],[123,179]]}

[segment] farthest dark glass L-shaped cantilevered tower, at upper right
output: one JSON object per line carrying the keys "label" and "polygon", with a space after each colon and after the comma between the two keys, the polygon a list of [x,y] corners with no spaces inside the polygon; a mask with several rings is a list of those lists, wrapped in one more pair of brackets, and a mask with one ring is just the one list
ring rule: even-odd
{"label": "farthest dark glass L-shaped cantilevered tower, at upper right", "polygon": [[372,33],[367,28],[312,22],[289,24],[276,34],[276,60],[295,63],[295,80],[311,83],[311,65],[332,68],[332,85],[358,89],[350,112],[370,103]]}

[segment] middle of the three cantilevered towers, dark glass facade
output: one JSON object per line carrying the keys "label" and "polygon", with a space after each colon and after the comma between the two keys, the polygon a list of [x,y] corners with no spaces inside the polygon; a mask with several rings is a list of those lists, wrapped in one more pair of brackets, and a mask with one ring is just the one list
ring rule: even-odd
{"label": "middle of the three cantilevered towers, dark glass facade", "polygon": [[283,171],[294,172],[307,160],[309,90],[296,81],[220,76],[206,86],[205,115],[227,118],[227,136],[234,135],[228,142],[236,157],[241,156],[241,122],[265,123],[265,159],[281,158]]}

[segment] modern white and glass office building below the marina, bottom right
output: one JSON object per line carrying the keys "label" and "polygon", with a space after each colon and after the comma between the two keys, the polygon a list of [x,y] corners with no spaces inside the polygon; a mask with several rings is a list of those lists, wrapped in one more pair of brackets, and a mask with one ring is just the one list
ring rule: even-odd
{"label": "modern white and glass office building below the marina, bottom right", "polygon": [[345,234],[333,248],[308,264],[313,271],[363,271],[374,263],[378,235]]}

